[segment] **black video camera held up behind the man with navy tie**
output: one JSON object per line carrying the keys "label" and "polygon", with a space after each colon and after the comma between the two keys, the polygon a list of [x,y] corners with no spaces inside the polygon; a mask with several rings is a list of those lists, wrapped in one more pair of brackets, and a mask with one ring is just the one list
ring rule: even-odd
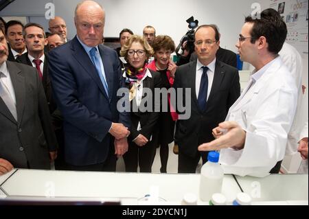
{"label": "black video camera held up behind the man with navy tie", "polygon": [[[189,23],[188,27],[190,30],[188,30],[185,36],[181,38],[181,41],[175,50],[176,55],[183,58],[190,56],[194,51],[194,29],[198,27],[198,20],[194,21],[193,16],[187,19],[186,22]],[[187,51],[186,53],[185,50]]]}

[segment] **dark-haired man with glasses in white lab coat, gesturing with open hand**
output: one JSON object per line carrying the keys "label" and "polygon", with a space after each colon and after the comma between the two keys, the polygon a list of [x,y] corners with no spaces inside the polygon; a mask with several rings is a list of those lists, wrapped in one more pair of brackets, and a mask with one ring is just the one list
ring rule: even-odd
{"label": "dark-haired man with glasses in white lab coat, gesturing with open hand", "polygon": [[282,18],[247,16],[236,44],[240,59],[255,70],[249,85],[214,128],[216,140],[198,150],[220,150],[227,174],[264,177],[278,173],[297,106],[295,78],[278,55],[287,35]]}

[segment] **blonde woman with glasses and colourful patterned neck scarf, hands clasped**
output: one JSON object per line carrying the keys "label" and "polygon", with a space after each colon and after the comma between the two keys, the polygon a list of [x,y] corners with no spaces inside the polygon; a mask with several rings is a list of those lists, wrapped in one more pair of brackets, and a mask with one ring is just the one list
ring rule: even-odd
{"label": "blonde woman with glasses and colourful patterned neck scarf, hands clasped", "polygon": [[[138,166],[140,172],[151,172],[155,157],[154,137],[158,130],[161,106],[160,101],[155,101],[155,88],[161,88],[161,78],[159,73],[147,68],[147,60],[152,54],[152,47],[143,37],[137,35],[128,38],[120,51],[120,55],[128,62],[123,77],[126,78],[126,87],[130,89],[131,108],[129,147],[124,154],[126,172],[137,172]],[[151,91],[152,95],[149,95],[148,91]]]}

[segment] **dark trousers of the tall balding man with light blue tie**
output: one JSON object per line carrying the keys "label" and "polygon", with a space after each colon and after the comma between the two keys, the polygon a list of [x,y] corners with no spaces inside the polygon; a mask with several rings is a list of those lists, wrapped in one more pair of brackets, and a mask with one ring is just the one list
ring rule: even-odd
{"label": "dark trousers of the tall balding man with light blue tie", "polygon": [[115,172],[116,171],[116,161],[117,158],[114,154],[112,148],[109,150],[108,156],[103,163],[95,163],[92,165],[72,165],[66,163],[67,170],[76,171],[102,171],[102,172]]}

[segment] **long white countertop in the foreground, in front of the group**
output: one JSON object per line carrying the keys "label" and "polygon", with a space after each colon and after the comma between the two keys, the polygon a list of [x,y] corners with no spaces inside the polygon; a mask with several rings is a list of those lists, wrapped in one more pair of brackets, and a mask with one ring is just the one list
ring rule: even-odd
{"label": "long white countertop in the foreground, in front of the group", "polygon": [[[253,198],[253,205],[308,205],[307,174],[273,174],[265,178],[236,176],[236,178],[243,191]],[[198,197],[199,182],[199,174],[19,169],[0,176],[0,197],[2,192],[2,196],[4,193],[9,198],[47,197],[84,200],[104,198],[121,200],[123,205],[146,205],[142,198],[155,191],[159,196],[157,202],[161,205],[181,205],[181,200],[187,193]],[[240,187],[232,175],[224,176],[222,194],[227,197],[228,203],[241,192]],[[207,204],[198,200],[198,205]]]}

